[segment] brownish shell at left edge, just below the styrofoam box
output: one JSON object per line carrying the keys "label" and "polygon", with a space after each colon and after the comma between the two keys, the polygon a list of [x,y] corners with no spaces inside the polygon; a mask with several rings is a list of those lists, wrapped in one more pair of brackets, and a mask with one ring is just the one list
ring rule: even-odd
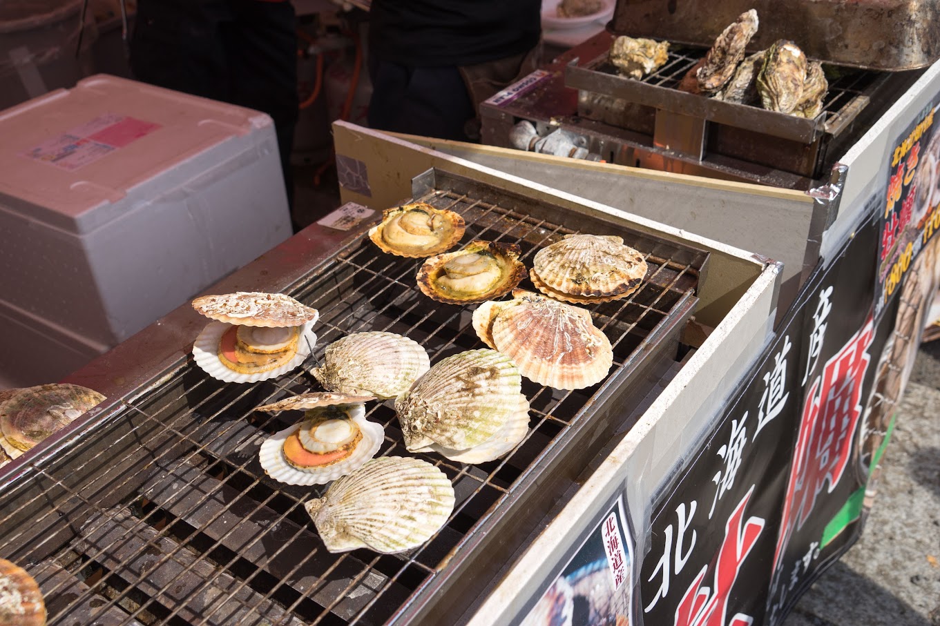
{"label": "brownish shell at left edge, just below the styrofoam box", "polygon": [[97,391],[78,384],[26,387],[3,402],[0,430],[10,446],[28,450],[103,399]]}

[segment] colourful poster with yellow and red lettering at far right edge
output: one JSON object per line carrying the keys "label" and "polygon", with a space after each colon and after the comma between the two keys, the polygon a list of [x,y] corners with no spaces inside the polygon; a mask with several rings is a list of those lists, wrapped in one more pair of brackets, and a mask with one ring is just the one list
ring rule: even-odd
{"label": "colourful poster with yellow and red lettering at far right edge", "polygon": [[[912,273],[917,256],[940,231],[940,117],[935,97],[895,139],[887,155],[887,190],[879,215],[875,318]],[[935,123],[936,122],[936,123]]]}

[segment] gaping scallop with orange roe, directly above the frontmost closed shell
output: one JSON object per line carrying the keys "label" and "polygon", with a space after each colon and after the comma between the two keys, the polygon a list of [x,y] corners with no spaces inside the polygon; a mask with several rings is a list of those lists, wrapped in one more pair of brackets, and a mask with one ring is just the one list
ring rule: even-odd
{"label": "gaping scallop with orange roe, directly above the frontmost closed shell", "polygon": [[265,473],[289,485],[318,485],[350,474],[379,451],[382,425],[366,419],[374,396],[308,393],[258,407],[278,412],[306,409],[300,424],[269,437],[258,452]]}

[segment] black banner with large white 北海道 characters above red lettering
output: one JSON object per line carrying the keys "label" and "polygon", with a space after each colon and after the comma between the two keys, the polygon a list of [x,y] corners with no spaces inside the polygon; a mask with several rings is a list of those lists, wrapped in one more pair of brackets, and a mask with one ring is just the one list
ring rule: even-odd
{"label": "black banner with large white \u5317\u6d77\u9053 characters above red lettering", "polygon": [[766,623],[781,494],[799,418],[803,323],[792,312],[781,323],[717,427],[653,509],[635,606],[642,622],[636,623]]}

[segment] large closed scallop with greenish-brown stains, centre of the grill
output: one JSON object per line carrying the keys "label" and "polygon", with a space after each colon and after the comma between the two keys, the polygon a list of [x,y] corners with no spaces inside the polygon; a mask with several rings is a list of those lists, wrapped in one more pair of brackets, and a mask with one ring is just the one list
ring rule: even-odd
{"label": "large closed scallop with greenish-brown stains, centre of the grill", "polygon": [[[521,419],[521,391],[519,368],[501,352],[481,349],[448,356],[395,400],[405,446],[410,452],[436,449],[451,458],[492,445],[494,439],[505,438],[507,430],[514,441],[503,441],[500,447],[514,446],[525,431],[507,427],[507,422]],[[525,405],[527,429],[527,401]]]}

